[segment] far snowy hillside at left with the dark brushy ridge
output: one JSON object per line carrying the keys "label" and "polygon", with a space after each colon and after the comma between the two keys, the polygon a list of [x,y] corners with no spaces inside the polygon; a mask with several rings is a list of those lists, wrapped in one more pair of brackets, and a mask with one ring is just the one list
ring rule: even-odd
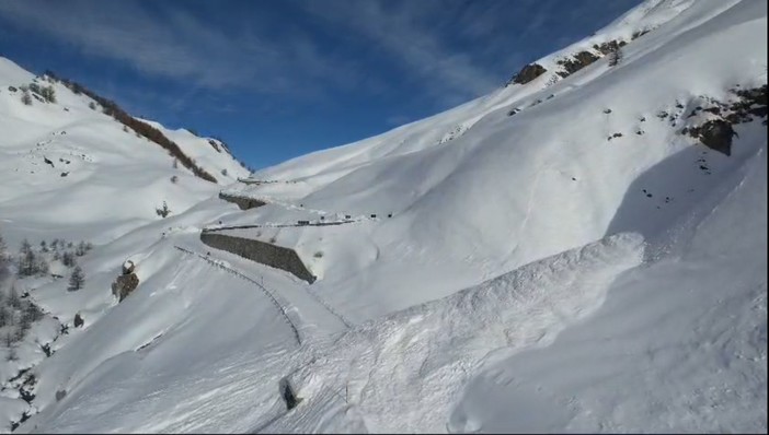
{"label": "far snowy hillside at left with the dark brushy ridge", "polygon": [[[220,183],[248,174],[218,141],[219,151],[191,134],[174,140]],[[0,216],[12,246],[21,228],[38,225],[50,238],[101,231],[92,240],[104,243],[160,219],[163,201],[179,213],[218,188],[85,94],[0,58]]]}

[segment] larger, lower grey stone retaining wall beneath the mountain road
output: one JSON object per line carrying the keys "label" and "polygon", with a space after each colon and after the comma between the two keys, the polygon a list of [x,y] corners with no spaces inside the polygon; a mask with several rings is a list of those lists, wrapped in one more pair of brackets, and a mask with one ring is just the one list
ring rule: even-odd
{"label": "larger, lower grey stone retaining wall beneath the mountain road", "polygon": [[234,237],[206,231],[200,233],[200,240],[213,248],[226,250],[271,268],[285,270],[310,284],[317,280],[294,249],[252,238]]}

